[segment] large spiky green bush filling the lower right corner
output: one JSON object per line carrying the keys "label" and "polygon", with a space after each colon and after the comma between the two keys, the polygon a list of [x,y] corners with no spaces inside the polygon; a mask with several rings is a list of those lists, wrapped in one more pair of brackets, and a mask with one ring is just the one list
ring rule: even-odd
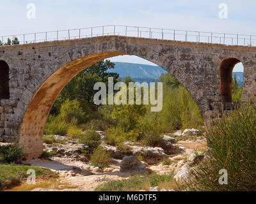
{"label": "large spiky green bush filling the lower right corner", "polygon": [[[256,107],[248,105],[225,115],[207,133],[209,159],[191,171],[184,189],[191,191],[256,191]],[[219,171],[228,172],[221,185]]]}

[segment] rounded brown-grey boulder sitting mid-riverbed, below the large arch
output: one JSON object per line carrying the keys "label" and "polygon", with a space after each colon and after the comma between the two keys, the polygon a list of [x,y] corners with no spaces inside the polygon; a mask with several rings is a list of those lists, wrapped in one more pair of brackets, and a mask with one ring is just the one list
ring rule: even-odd
{"label": "rounded brown-grey boulder sitting mid-riverbed, below the large arch", "polygon": [[120,163],[120,171],[145,170],[145,165],[136,156],[125,156]]}

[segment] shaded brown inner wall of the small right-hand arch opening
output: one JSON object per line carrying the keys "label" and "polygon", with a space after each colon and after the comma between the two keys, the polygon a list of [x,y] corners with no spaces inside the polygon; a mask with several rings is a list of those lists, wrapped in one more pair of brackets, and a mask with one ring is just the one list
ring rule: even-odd
{"label": "shaded brown inner wall of the small right-hand arch opening", "polygon": [[232,102],[232,71],[239,59],[230,57],[220,64],[220,95],[222,102]]}

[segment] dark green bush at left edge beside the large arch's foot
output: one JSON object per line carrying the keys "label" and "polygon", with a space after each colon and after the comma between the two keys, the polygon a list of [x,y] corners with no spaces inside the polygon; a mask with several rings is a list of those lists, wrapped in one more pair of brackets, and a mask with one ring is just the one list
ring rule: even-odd
{"label": "dark green bush at left edge beside the large arch's foot", "polygon": [[15,163],[24,159],[25,156],[24,150],[17,143],[0,146],[0,162]]}

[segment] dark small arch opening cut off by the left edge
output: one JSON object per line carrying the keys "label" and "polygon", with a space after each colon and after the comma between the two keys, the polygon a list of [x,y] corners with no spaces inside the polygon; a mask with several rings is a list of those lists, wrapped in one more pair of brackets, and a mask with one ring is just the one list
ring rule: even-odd
{"label": "dark small arch opening cut off by the left edge", "polygon": [[10,99],[9,66],[5,61],[0,61],[0,99]]}

